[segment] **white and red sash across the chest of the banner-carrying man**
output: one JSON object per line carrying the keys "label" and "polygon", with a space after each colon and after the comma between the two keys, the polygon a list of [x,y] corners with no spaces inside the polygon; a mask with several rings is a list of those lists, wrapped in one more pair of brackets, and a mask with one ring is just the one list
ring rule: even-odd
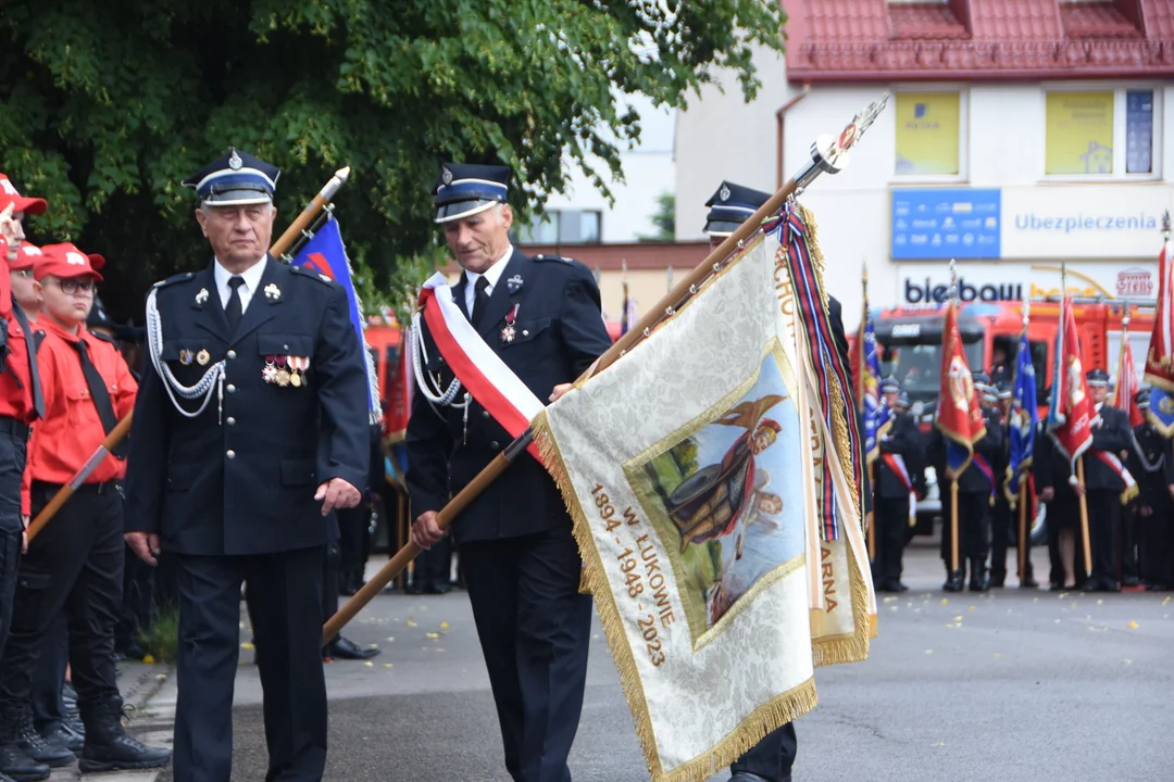
{"label": "white and red sash across the chest of the banner-carrying man", "polygon": [[[440,355],[465,389],[511,437],[524,433],[545,406],[477,333],[439,272],[420,290],[419,306]],[[533,443],[528,450],[539,458]]]}

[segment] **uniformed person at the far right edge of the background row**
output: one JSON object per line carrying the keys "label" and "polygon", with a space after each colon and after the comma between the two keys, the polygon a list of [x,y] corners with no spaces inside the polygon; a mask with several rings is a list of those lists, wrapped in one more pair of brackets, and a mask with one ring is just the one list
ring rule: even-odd
{"label": "uniformed person at the far right edge of the background row", "polygon": [[[1149,388],[1135,396],[1142,414],[1149,409]],[[1170,441],[1149,421],[1133,428],[1129,474],[1138,482],[1138,552],[1141,578],[1149,591],[1174,587],[1174,465]]]}

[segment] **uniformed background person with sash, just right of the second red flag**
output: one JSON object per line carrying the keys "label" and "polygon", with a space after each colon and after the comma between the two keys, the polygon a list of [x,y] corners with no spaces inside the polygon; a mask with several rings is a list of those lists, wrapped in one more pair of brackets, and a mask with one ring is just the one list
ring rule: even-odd
{"label": "uniformed background person with sash, just right of the second red flag", "polygon": [[[1093,369],[1087,374],[1088,387],[1108,387],[1108,374]],[[1097,406],[1100,420],[1093,423],[1093,444],[1082,456],[1085,489],[1088,503],[1088,537],[1092,543],[1093,572],[1087,589],[1101,592],[1120,590],[1116,578],[1116,536],[1121,517],[1121,492],[1125,480],[1100,460],[1095,451],[1126,457],[1132,447],[1129,414],[1107,402]],[[1078,558],[1084,567],[1082,557]]]}

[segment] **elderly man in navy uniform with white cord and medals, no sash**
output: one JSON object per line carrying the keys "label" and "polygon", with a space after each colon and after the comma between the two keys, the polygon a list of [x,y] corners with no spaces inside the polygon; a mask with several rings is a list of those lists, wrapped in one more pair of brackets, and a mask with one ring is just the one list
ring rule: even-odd
{"label": "elderly man in navy uniform with white cord and medals, no sash", "polygon": [[177,782],[232,777],[242,583],[265,778],[321,780],[326,761],[322,559],[366,482],[366,373],[343,290],[268,254],[278,175],[234,149],[187,179],[215,259],[147,298],[127,543],[176,555]]}

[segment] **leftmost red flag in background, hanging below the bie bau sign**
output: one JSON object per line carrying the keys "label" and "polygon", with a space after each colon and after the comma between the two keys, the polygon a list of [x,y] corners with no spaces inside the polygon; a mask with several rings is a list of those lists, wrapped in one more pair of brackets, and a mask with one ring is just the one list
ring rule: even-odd
{"label": "leftmost red flag in background, hanging below the bie bau sign", "polygon": [[942,334],[942,388],[936,423],[947,441],[949,467],[962,474],[973,458],[974,443],[986,436],[986,421],[966,365],[966,352],[958,334],[958,305],[953,301],[946,306]]}

